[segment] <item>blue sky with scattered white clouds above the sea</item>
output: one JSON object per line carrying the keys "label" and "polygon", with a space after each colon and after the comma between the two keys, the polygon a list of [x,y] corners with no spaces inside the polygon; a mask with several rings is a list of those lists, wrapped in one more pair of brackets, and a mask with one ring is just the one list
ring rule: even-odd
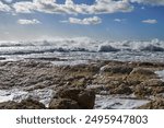
{"label": "blue sky with scattered white clouds above the sea", "polygon": [[0,40],[164,39],[164,0],[0,0]]}

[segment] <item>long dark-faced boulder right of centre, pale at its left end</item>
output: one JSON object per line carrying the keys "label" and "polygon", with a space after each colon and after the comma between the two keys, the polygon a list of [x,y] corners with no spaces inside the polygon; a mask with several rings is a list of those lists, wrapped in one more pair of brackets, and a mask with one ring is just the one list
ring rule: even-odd
{"label": "long dark-faced boulder right of centre, pale at its left end", "polygon": [[108,72],[108,73],[124,73],[124,74],[129,74],[132,71],[131,67],[127,66],[109,66],[106,65],[101,68],[101,72]]}

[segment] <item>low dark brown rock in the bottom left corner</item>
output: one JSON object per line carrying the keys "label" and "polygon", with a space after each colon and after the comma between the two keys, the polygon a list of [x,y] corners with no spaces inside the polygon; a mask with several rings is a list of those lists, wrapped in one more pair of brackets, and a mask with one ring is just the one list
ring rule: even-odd
{"label": "low dark brown rock in the bottom left corner", "polygon": [[3,102],[0,103],[0,108],[1,109],[45,109],[45,105],[27,98],[27,100],[23,100],[21,103],[16,103],[16,102]]}

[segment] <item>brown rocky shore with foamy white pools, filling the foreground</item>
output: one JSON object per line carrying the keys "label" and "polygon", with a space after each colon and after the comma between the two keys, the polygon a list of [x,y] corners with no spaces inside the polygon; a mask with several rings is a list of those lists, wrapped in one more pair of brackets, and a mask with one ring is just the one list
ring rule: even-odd
{"label": "brown rocky shore with foamy white pools, filling the foreground", "polygon": [[[155,73],[160,70],[164,63],[1,61],[0,108],[164,108],[164,82]],[[133,104],[126,107],[124,101]]]}

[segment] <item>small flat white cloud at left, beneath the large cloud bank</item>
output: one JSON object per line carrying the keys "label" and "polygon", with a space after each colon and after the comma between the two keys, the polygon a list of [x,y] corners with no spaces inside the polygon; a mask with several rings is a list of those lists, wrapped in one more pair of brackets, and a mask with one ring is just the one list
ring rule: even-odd
{"label": "small flat white cloud at left, beneath the large cloud bank", "polygon": [[22,25],[40,24],[40,22],[36,19],[33,19],[33,20],[21,19],[21,20],[17,21],[17,23],[22,24]]}

